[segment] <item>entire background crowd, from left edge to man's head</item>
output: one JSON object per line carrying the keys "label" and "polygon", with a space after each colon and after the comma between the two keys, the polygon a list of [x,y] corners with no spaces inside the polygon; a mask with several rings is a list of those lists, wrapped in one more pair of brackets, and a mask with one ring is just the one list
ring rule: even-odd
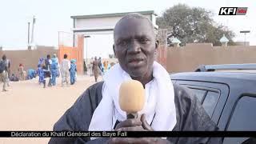
{"label": "entire background crowd, from left edge to man's head", "polygon": [[[10,86],[9,82],[18,82],[24,80],[30,80],[38,76],[38,83],[43,84],[43,87],[56,86],[56,78],[62,78],[62,86],[74,85],[76,82],[77,66],[75,59],[68,59],[68,55],[63,55],[63,60],[59,63],[57,55],[53,54],[52,58],[50,54],[47,54],[46,58],[39,58],[38,60],[38,70],[29,68],[25,70],[24,65],[20,63],[18,65],[18,74],[10,74],[10,60],[6,58],[4,54],[2,56],[1,69],[0,69],[0,82],[3,82],[2,91],[7,91],[6,86]],[[102,58],[94,57],[92,58],[89,65],[84,61],[84,72],[90,71],[90,76],[94,75],[95,82],[98,82],[98,76],[104,75],[108,70],[110,70],[110,62],[102,61]],[[48,83],[46,83],[46,79]]]}

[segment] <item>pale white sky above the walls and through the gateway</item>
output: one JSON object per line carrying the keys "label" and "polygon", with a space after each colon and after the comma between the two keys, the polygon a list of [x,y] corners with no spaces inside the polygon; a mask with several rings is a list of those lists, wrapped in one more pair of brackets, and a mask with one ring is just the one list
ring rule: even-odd
{"label": "pale white sky above the walls and through the gateway", "polygon": [[[38,45],[58,46],[58,31],[71,32],[71,15],[108,14],[154,10],[160,15],[178,3],[199,6],[214,12],[214,21],[234,30],[234,41],[244,41],[240,30],[250,30],[246,41],[256,45],[256,3],[253,0],[0,0],[0,46],[4,50],[22,50],[27,46],[27,23],[36,17],[34,41]],[[218,16],[223,6],[248,7],[246,15]],[[91,36],[88,58],[112,53],[113,35]],[[85,45],[86,47],[86,45]],[[86,52],[86,50],[85,50]],[[85,54],[86,56],[86,54]]]}

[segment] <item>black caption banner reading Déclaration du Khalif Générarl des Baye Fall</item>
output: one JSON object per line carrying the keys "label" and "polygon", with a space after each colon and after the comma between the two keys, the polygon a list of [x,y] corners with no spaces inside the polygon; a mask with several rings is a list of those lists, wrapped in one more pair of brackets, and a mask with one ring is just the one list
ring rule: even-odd
{"label": "black caption banner reading D\u00e9claration du Khalif G\u00e9n\u00e9rarl des Baye Fall", "polygon": [[0,131],[0,138],[10,137],[256,137],[256,131]]}

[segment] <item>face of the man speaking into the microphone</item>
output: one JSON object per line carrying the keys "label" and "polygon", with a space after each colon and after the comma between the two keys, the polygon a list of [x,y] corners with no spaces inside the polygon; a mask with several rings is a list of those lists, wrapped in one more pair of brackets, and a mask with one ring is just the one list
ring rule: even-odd
{"label": "face of the man speaking into the microphone", "polygon": [[123,19],[114,30],[114,53],[122,70],[131,77],[151,73],[158,44],[146,19]]}

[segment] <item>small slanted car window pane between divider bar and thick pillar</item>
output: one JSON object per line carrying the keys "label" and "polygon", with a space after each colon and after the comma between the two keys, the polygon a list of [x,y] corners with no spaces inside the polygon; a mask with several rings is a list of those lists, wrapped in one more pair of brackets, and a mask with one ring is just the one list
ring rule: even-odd
{"label": "small slanted car window pane between divider bar and thick pillar", "polygon": [[212,116],[214,113],[214,108],[218,102],[219,93],[208,91],[206,94],[206,98],[202,102],[202,107],[206,110],[206,113]]}

